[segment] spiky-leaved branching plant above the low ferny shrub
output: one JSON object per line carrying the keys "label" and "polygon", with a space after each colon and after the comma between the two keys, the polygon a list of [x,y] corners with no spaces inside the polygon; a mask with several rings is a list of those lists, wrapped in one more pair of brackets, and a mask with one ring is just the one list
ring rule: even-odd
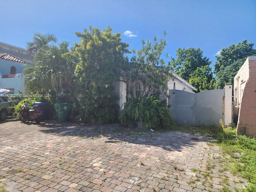
{"label": "spiky-leaved branching plant above the low ferny shrub", "polygon": [[[164,32],[164,38],[166,32]],[[138,98],[139,96],[159,97],[165,92],[167,82],[172,76],[170,73],[170,63],[165,63],[169,54],[163,56],[163,51],[167,42],[154,37],[154,42],[142,40],[142,48],[133,50],[133,55],[123,66],[123,80],[126,82],[128,97]]]}

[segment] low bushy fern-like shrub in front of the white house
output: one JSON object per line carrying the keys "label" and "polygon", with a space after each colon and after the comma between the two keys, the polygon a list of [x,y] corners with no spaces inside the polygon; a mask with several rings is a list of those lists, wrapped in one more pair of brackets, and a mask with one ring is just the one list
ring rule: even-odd
{"label": "low bushy fern-like shrub in front of the white house", "polygon": [[119,120],[128,125],[131,121],[139,121],[146,128],[164,129],[172,123],[172,117],[166,104],[166,100],[155,97],[138,97],[124,103]]}

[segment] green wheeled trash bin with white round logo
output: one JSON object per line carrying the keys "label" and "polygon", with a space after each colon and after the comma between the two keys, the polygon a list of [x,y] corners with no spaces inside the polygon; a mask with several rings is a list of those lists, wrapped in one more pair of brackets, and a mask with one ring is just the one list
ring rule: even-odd
{"label": "green wheeled trash bin with white round logo", "polygon": [[59,123],[67,122],[69,120],[71,105],[70,103],[55,103],[54,109]]}

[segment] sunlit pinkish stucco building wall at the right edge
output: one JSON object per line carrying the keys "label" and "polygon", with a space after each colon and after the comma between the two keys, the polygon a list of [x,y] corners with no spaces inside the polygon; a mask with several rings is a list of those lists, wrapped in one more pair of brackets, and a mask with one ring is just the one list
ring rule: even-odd
{"label": "sunlit pinkish stucco building wall at the right edge", "polygon": [[248,57],[234,78],[234,101],[239,108],[237,133],[256,136],[256,57]]}

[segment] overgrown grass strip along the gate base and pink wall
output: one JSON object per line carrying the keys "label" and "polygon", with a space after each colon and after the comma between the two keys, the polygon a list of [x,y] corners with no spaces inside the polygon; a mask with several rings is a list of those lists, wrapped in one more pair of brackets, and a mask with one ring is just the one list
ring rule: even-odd
{"label": "overgrown grass strip along the gate base and pink wall", "polygon": [[[172,127],[172,130],[207,135],[215,138],[217,140],[215,144],[222,148],[223,155],[230,156],[224,158],[224,163],[228,163],[227,168],[232,174],[243,177],[249,182],[249,185],[246,187],[247,191],[256,191],[256,139],[236,135],[236,129],[232,127],[177,126]],[[207,169],[211,168],[213,166],[209,164]],[[227,168],[220,169],[219,172],[224,172]],[[229,189],[223,188],[222,191],[229,191]]]}

